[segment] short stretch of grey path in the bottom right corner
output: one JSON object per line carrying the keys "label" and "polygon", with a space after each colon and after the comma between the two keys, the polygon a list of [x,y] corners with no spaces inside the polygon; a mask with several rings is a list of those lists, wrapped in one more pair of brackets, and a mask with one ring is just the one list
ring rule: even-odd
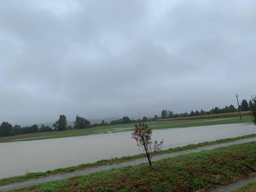
{"label": "short stretch of grey path in the bottom right corner", "polygon": [[244,185],[249,184],[251,182],[256,182],[256,177],[240,180],[226,186],[220,186],[217,187],[216,189],[208,190],[207,192],[232,192],[238,189],[239,187],[243,187]]}

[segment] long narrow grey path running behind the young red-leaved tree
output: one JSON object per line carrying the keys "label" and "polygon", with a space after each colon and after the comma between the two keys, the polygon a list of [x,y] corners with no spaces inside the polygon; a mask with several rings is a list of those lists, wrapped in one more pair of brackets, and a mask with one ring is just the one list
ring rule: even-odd
{"label": "long narrow grey path running behind the young red-leaved tree", "polygon": [[[239,144],[239,143],[248,143],[248,142],[251,142],[251,141],[256,141],[256,137],[231,141],[231,142],[228,142],[228,143],[209,145],[209,146],[199,147],[199,148],[196,148],[196,149],[191,149],[191,150],[186,150],[186,151],[180,151],[180,152],[174,152],[174,153],[167,153],[167,154],[163,154],[163,155],[157,155],[157,156],[152,158],[152,161],[157,161],[157,160],[160,160],[162,158],[167,158],[167,157],[175,157],[177,155],[184,155],[184,154],[188,154],[188,153],[200,152],[200,151],[203,151],[203,150],[211,150],[211,149],[215,149],[215,148],[218,148],[218,147],[225,147],[225,146],[235,145],[235,144]],[[109,170],[111,168],[125,167],[125,166],[128,166],[128,165],[138,165],[138,164],[141,164],[141,163],[145,163],[147,161],[148,161],[147,158],[140,158],[140,159],[136,159],[136,160],[132,160],[132,161],[128,161],[128,162],[123,162],[123,163],[118,163],[118,164],[113,164],[113,165],[103,165],[103,166],[94,167],[94,168],[87,168],[87,169],[83,169],[83,170],[77,170],[77,171],[69,172],[69,173],[58,173],[58,174],[47,176],[47,177],[41,177],[41,178],[37,178],[37,179],[30,179],[30,180],[25,180],[25,181],[22,181],[22,182],[16,182],[16,183],[7,184],[7,185],[0,185],[0,191],[19,189],[19,188],[22,188],[22,187],[28,187],[28,186],[48,182],[48,181],[67,179],[69,177],[74,177],[74,176],[78,176],[78,175],[86,175],[86,174],[94,173],[94,172],[98,172],[98,171]]]}

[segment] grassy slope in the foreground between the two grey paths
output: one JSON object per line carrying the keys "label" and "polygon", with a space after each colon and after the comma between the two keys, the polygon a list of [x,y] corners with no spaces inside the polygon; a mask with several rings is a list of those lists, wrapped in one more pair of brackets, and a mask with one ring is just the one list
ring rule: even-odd
{"label": "grassy slope in the foreground between the two grey paths", "polygon": [[179,155],[15,191],[197,191],[256,173],[256,142]]}

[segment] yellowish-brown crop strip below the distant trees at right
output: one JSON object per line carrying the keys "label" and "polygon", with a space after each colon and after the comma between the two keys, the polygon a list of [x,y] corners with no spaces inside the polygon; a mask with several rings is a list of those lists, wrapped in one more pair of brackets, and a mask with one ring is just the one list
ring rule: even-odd
{"label": "yellowish-brown crop strip below the distant trees at right", "polygon": [[[241,116],[249,116],[251,115],[251,111],[241,111]],[[175,121],[175,120],[199,120],[199,119],[210,119],[210,118],[226,118],[226,117],[238,117],[239,112],[233,113],[220,113],[220,114],[212,114],[212,115],[200,115],[200,116],[192,116],[192,117],[179,117],[179,118],[167,118],[167,119],[159,119],[157,121]]]}

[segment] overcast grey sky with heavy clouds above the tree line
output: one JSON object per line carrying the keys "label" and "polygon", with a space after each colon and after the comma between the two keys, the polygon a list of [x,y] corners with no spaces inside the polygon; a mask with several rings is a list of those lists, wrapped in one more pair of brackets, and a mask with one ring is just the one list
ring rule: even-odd
{"label": "overcast grey sky with heavy clouds above the tree line", "polygon": [[[1,0],[0,121],[142,118],[249,99],[255,10],[255,0]],[[2,118],[18,116],[45,117]]]}

